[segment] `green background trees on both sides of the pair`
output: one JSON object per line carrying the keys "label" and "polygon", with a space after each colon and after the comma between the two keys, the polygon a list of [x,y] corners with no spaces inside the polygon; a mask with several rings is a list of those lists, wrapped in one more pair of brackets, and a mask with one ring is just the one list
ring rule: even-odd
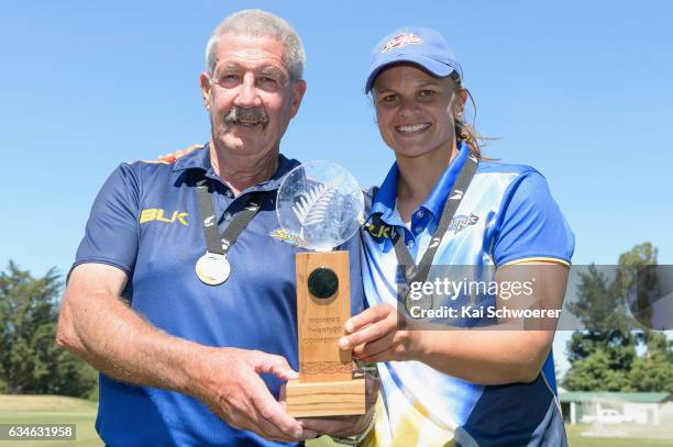
{"label": "green background trees on both sides of the pair", "polygon": [[[581,273],[577,299],[566,309],[587,329],[567,344],[563,388],[673,393],[673,342],[661,332],[633,331],[625,311],[633,267],[652,265],[657,248],[646,243],[619,256],[615,278],[596,266]],[[0,393],[97,398],[97,371],[55,343],[62,291],[54,268],[34,278],[10,261],[0,271]]]}

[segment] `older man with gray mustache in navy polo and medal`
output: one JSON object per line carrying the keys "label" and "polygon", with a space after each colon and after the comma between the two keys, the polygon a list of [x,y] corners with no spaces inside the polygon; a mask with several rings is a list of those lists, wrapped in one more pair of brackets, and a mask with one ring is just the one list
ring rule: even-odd
{"label": "older man with gray mustache in navy polo and medal", "polygon": [[200,76],[210,142],[174,164],[123,164],[96,199],[57,342],[101,371],[107,445],[269,445],[367,426],[368,416],[300,423],[277,401],[297,376],[297,249],[272,236],[275,194],[298,165],[279,145],[306,91],[302,68],[284,20],[227,18]]}

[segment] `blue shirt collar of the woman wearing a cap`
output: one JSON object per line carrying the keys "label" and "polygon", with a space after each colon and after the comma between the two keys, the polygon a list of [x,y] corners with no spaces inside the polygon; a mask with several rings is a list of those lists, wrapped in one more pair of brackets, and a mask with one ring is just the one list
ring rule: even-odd
{"label": "blue shirt collar of the woman wearing a cap", "polygon": [[[461,142],[459,145],[457,155],[451,160],[446,167],[446,170],[444,170],[438,182],[434,185],[434,188],[432,188],[430,194],[421,204],[422,208],[432,213],[434,219],[439,219],[441,215],[446,198],[449,197],[449,192],[451,191],[461,168],[465,164],[468,154],[470,147],[467,147],[465,143]],[[379,213],[384,220],[394,215],[395,202],[397,200],[398,178],[399,167],[397,166],[396,161],[393,164],[388,175],[380,185],[380,189],[378,190],[374,203],[372,204],[371,214]]]}

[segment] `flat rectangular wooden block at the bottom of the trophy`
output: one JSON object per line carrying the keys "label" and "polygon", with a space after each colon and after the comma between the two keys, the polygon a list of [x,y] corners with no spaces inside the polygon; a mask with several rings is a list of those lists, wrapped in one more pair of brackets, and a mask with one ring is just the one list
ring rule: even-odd
{"label": "flat rectangular wooden block at the bottom of the trophy", "polygon": [[366,413],[364,377],[340,382],[290,380],[285,389],[293,417],[347,416]]}

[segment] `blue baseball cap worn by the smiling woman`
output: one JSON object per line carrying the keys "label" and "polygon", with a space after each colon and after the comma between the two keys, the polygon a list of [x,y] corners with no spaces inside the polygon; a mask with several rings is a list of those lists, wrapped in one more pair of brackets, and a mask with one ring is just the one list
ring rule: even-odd
{"label": "blue baseball cap worn by the smiling woman", "polygon": [[461,65],[440,33],[429,27],[404,26],[382,38],[372,51],[365,93],[372,90],[384,68],[397,63],[416,64],[440,78],[453,71],[462,77]]}

